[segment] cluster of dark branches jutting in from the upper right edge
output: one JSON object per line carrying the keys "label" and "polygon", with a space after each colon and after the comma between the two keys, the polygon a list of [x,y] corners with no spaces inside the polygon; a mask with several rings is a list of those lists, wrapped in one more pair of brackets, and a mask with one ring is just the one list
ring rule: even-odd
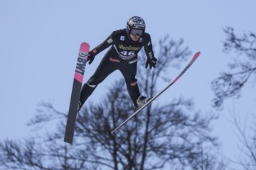
{"label": "cluster of dark branches jutting in from the upper right edge", "polygon": [[234,50],[239,57],[229,64],[230,72],[221,72],[220,77],[212,81],[211,87],[215,93],[213,106],[220,109],[226,98],[239,98],[242,87],[250,78],[255,79],[253,76],[256,75],[255,34],[248,33],[238,37],[231,27],[225,28],[224,32],[227,38],[223,51]]}

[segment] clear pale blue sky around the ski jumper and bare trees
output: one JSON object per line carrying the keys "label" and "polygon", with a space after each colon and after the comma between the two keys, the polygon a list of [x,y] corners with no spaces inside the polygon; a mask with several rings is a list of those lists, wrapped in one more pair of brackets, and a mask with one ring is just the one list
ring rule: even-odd
{"label": "clear pale blue sky around the ski jumper and bare trees", "polygon": [[[232,26],[239,35],[254,31],[255,6],[253,0],[0,1],[0,140],[33,135],[26,123],[41,101],[52,101],[59,111],[67,112],[80,42],[95,47],[135,15],[146,21],[154,44],[169,34],[174,40],[183,38],[193,53],[201,51],[193,67],[161,98],[192,98],[202,113],[215,112],[210,81],[228,70],[232,57],[222,52],[223,28]],[[87,66],[84,81],[104,54]],[[170,78],[180,71],[171,69]],[[100,100],[116,77],[122,76],[114,72],[87,104]],[[213,134],[227,157],[234,159],[239,153],[239,141],[228,121],[230,111],[235,107],[241,118],[255,112],[255,92],[252,83],[245,86],[242,97],[226,101],[220,119],[213,123]]]}

